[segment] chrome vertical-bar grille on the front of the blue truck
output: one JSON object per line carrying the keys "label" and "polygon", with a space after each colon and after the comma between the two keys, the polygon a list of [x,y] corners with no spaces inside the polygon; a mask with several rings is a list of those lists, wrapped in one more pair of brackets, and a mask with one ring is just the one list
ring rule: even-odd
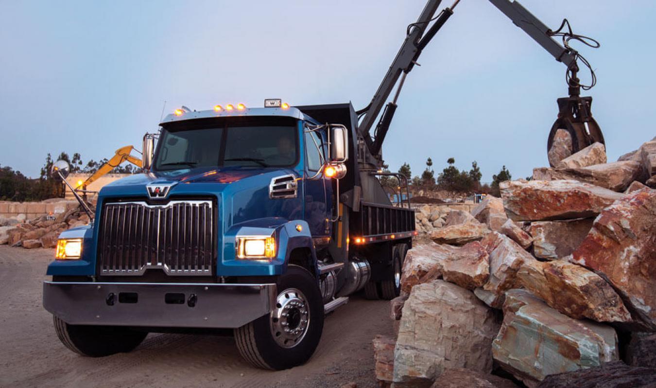
{"label": "chrome vertical-bar grille on the front of the blue truck", "polygon": [[98,224],[101,275],[207,275],[214,259],[211,200],[105,204]]}

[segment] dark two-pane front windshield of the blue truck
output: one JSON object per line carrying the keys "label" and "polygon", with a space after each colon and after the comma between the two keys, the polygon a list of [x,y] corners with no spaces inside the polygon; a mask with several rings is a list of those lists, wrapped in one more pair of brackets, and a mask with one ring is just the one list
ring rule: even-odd
{"label": "dark two-pane front windshield of the blue truck", "polygon": [[298,160],[297,120],[215,118],[163,127],[154,167],[290,167]]}

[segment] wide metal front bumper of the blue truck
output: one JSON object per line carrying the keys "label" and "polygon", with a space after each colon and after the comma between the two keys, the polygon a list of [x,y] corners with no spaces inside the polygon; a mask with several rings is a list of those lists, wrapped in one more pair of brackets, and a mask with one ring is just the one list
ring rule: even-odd
{"label": "wide metal front bumper of the blue truck", "polygon": [[43,307],[68,324],[238,328],[276,305],[276,284],[43,282]]}

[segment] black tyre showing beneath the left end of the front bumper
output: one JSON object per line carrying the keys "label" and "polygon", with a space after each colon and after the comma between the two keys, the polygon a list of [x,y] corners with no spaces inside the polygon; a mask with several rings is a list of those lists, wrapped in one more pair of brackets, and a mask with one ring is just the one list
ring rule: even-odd
{"label": "black tyre showing beneath the left end of the front bumper", "polygon": [[56,316],[53,323],[59,340],[68,349],[90,357],[133,351],[148,335],[121,326],[70,325]]}

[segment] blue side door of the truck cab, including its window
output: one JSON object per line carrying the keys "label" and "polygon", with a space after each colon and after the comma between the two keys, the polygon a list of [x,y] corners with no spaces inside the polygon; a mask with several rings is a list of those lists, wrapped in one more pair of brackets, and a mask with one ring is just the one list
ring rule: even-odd
{"label": "blue side door of the truck cab, including its window", "polygon": [[325,141],[318,131],[304,132],[305,145],[305,221],[310,225],[312,236],[330,236],[331,223],[326,220],[331,217],[330,181],[323,176],[321,167],[325,162]]}

